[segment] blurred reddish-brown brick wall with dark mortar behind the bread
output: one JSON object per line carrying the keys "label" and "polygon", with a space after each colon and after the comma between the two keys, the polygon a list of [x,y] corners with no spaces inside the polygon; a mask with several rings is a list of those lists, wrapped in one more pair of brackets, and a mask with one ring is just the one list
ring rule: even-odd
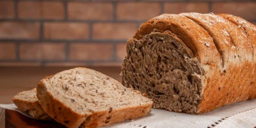
{"label": "blurred reddish-brown brick wall with dark mortar behind the bread", "polygon": [[0,65],[119,66],[144,21],[181,12],[256,24],[255,0],[0,0]]}

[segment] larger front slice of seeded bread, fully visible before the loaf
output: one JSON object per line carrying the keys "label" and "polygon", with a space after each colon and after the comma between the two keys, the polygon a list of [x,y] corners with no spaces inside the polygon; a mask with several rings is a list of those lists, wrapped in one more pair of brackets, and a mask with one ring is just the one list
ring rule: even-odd
{"label": "larger front slice of seeded bread, fully visible before the loaf", "polygon": [[95,128],[145,116],[153,102],[142,95],[88,68],[59,72],[37,86],[42,108],[69,128]]}

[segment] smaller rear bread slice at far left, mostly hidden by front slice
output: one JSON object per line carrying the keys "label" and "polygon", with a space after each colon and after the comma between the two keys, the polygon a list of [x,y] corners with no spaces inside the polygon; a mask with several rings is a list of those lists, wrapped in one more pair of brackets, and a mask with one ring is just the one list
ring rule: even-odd
{"label": "smaller rear bread slice at far left, mostly hidden by front slice", "polygon": [[12,98],[13,103],[23,112],[28,112],[35,119],[53,121],[44,109],[39,105],[37,99],[37,89],[33,88],[29,91],[22,91]]}

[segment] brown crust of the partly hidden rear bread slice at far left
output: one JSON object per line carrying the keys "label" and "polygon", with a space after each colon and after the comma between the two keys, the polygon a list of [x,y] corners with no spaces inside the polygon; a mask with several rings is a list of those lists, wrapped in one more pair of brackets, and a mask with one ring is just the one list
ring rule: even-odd
{"label": "brown crust of the partly hidden rear bread slice at far left", "polygon": [[[33,88],[29,91],[36,91],[36,88]],[[19,98],[19,94],[26,92],[28,91],[22,91],[12,98],[12,102],[18,107],[18,109],[23,112],[28,112],[30,116],[32,116],[35,119],[53,121],[53,119],[49,117],[49,115],[47,115],[46,112],[44,112],[42,107],[39,105],[38,100],[25,100]]]}

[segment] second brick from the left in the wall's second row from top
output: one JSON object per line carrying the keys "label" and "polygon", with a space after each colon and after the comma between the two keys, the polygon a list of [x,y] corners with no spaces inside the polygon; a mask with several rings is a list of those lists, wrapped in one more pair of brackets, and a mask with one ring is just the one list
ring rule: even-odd
{"label": "second brick from the left in the wall's second row from top", "polygon": [[45,39],[88,39],[86,23],[44,23]]}

